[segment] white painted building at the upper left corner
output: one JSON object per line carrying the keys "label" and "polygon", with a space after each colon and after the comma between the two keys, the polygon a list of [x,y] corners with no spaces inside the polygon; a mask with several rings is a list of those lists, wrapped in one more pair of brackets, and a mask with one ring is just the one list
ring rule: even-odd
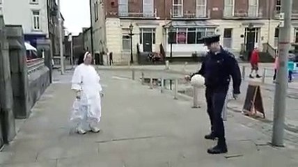
{"label": "white painted building at the upper left corner", "polygon": [[4,22],[22,25],[24,38],[36,45],[37,38],[49,38],[47,0],[0,0]]}

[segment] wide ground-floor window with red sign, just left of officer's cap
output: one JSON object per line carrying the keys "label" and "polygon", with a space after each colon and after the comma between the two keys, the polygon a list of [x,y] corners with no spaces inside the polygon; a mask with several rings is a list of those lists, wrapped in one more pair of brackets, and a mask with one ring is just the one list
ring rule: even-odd
{"label": "wide ground-floor window with red sign, just left of officer's cap", "polygon": [[[201,39],[206,35],[213,35],[215,28],[178,28],[173,29],[173,44],[202,44]],[[168,43],[171,43],[168,32]]]}

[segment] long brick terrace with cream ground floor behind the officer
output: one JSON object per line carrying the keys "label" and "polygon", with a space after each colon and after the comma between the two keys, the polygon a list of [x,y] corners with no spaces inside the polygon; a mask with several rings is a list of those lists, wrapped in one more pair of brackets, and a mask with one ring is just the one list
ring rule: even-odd
{"label": "long brick terrace with cream ground floor behind the officer", "polygon": [[[126,62],[129,58],[130,24],[134,53],[137,46],[139,51],[149,52],[159,52],[163,47],[168,57],[170,31],[174,34],[175,58],[205,51],[200,39],[214,33],[220,34],[221,44],[236,55],[254,47],[277,47],[281,0],[104,0],[100,3],[105,12],[100,15],[99,24],[107,30],[102,31],[106,33],[100,40],[106,41],[107,49],[113,51],[114,61]],[[298,1],[293,1],[292,42],[298,42],[297,23]]]}

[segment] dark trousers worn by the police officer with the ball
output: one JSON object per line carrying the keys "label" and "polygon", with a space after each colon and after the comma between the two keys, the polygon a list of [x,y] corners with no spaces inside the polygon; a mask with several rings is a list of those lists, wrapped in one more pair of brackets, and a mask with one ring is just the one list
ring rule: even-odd
{"label": "dark trousers worn by the police officer with the ball", "polygon": [[224,121],[221,112],[224,108],[228,90],[214,90],[206,88],[205,96],[207,101],[207,113],[211,122],[211,131],[214,136],[219,138],[219,145],[226,145]]}

